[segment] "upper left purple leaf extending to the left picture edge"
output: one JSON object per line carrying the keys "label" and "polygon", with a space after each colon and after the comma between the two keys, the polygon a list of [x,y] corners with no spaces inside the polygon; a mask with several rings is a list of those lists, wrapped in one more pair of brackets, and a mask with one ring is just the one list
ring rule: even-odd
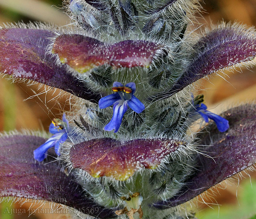
{"label": "upper left purple leaf extending to the left picture edge", "polygon": [[101,97],[87,88],[76,76],[58,66],[52,55],[45,54],[50,37],[48,30],[10,28],[0,30],[0,72],[14,78],[26,78],[62,89],[86,100]]}

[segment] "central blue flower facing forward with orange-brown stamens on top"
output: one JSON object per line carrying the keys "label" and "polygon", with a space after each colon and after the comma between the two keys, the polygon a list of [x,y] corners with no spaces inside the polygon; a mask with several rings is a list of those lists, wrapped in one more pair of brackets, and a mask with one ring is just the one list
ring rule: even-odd
{"label": "central blue flower facing forward with orange-brown stamens on top", "polygon": [[141,113],[145,109],[145,106],[134,96],[136,91],[134,82],[123,85],[115,81],[112,91],[115,93],[102,97],[99,100],[99,108],[104,109],[113,105],[113,117],[110,122],[106,124],[104,130],[111,131],[114,129],[114,132],[117,132],[128,106],[137,113]]}

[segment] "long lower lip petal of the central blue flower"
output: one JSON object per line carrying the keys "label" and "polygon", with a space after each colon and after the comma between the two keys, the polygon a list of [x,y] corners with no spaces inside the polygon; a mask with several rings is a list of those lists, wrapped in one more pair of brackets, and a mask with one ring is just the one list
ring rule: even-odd
{"label": "long lower lip petal of the central blue flower", "polygon": [[114,129],[114,132],[117,132],[119,127],[121,126],[121,122],[125,112],[127,111],[127,108],[128,107],[126,101],[116,101],[113,106],[113,117],[110,122],[106,124],[104,130],[112,131]]}

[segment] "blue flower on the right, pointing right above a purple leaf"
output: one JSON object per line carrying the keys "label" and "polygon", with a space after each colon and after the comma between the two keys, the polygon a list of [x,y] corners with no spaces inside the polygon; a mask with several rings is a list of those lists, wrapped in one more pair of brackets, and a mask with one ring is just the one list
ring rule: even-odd
{"label": "blue flower on the right, pointing right above a purple leaf", "polygon": [[207,106],[203,103],[201,104],[196,104],[195,105],[196,111],[203,117],[205,122],[209,122],[209,119],[214,120],[214,122],[217,125],[217,128],[220,132],[225,132],[229,128],[229,121],[222,118],[219,115],[216,115],[207,109]]}

